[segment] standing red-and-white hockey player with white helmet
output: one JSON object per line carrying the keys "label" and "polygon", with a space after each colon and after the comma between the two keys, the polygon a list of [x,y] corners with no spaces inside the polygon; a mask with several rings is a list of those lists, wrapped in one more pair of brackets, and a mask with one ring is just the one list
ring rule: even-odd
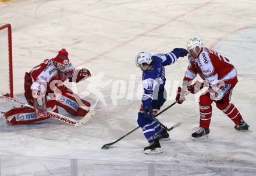
{"label": "standing red-and-white hockey player with white helmet", "polygon": [[[187,67],[182,88],[178,87],[176,101],[182,104],[185,100],[184,94],[186,90],[195,94],[204,86],[208,87],[208,91],[201,94],[199,98],[200,126],[192,134],[193,139],[209,134],[212,102],[215,102],[216,107],[233,120],[236,130],[248,130],[248,124],[244,122],[238,109],[230,102],[232,90],[238,81],[236,68],[227,57],[212,49],[202,47],[201,38],[191,38],[187,42],[187,50],[189,50],[189,67]],[[200,75],[204,82],[197,81],[190,85],[197,74]]]}

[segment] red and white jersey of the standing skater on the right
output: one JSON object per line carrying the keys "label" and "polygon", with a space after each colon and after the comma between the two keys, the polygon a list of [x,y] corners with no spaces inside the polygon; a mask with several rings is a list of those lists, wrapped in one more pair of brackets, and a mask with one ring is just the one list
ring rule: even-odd
{"label": "red and white jersey of the standing skater on the right", "polygon": [[192,80],[197,74],[208,83],[214,80],[227,82],[236,78],[236,68],[227,57],[204,47],[198,58],[189,57],[189,67],[187,67],[185,77]]}

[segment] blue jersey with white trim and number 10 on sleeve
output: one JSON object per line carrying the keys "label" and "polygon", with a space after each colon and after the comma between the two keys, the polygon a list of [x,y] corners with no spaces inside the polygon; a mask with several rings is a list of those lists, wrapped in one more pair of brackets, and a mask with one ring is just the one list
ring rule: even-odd
{"label": "blue jersey with white trim and number 10 on sleeve", "polygon": [[165,66],[172,65],[177,58],[172,52],[152,56],[152,69],[143,71],[142,75],[144,94],[141,101],[143,105],[151,105],[153,99],[157,100],[158,91],[163,91],[165,87]]}

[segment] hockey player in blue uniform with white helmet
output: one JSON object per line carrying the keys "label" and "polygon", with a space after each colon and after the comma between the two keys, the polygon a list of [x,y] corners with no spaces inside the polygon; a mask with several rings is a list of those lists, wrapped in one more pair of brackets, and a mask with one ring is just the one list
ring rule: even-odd
{"label": "hockey player in blue uniform with white helmet", "polygon": [[187,56],[187,53],[186,49],[175,48],[166,54],[152,56],[149,52],[141,52],[136,56],[135,63],[143,71],[144,86],[137,122],[150,144],[144,148],[145,154],[161,153],[159,141],[170,140],[168,132],[160,126],[154,116],[166,101],[165,66],[175,63],[179,57]]}

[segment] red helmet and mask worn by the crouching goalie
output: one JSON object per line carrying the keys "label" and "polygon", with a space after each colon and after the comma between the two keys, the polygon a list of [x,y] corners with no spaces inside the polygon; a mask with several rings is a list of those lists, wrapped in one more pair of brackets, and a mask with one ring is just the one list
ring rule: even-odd
{"label": "red helmet and mask worn by the crouching goalie", "polygon": [[66,68],[69,66],[69,53],[66,49],[61,49],[58,55],[54,58],[54,65],[59,71],[65,72]]}

